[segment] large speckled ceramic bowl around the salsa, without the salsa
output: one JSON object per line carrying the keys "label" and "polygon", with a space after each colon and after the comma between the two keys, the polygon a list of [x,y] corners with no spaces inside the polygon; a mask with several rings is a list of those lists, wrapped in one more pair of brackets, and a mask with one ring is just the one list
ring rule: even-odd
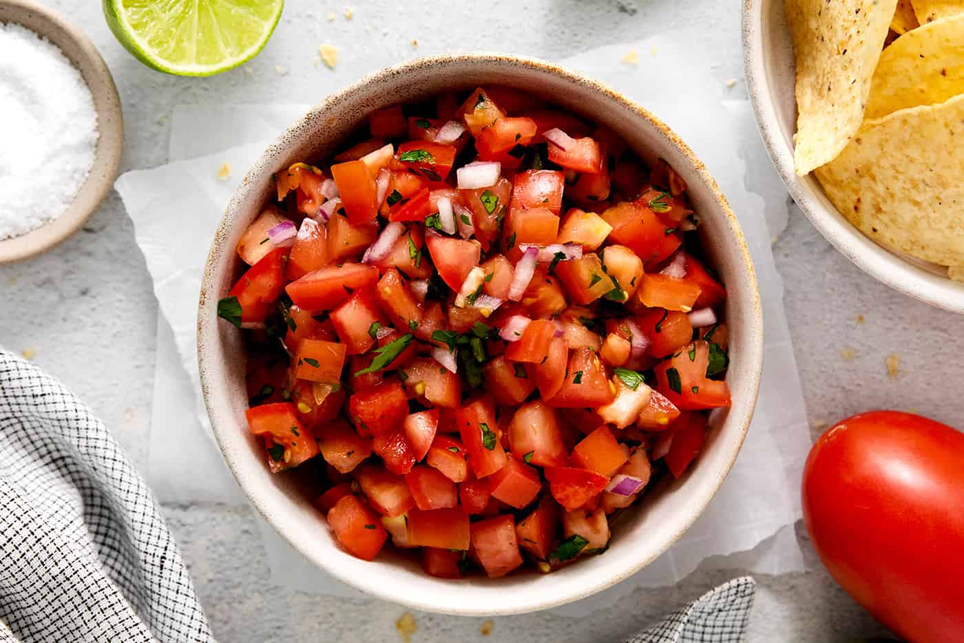
{"label": "large speckled ceramic bowl around the salsa, without the salsa", "polygon": [[[665,481],[613,525],[611,547],[551,575],[524,572],[460,581],[426,575],[415,560],[383,553],[365,562],[340,549],[324,517],[290,475],[273,475],[264,447],[248,432],[241,334],[217,317],[217,302],[239,272],[234,247],[274,187],[272,173],[303,159],[328,158],[372,110],[445,90],[503,84],[538,94],[624,136],[644,158],[662,156],[689,185],[703,239],[730,293],[733,407],[713,416],[710,440],[681,480]],[[599,83],[549,64],[501,55],[416,60],[390,67],[330,96],[269,147],[228,204],[201,285],[198,318],[201,387],[211,424],[238,484],[293,547],[325,572],[380,599],[461,615],[530,612],[585,598],[617,583],[676,541],[703,512],[733,466],[756,404],[763,361],[760,295],[736,217],[703,164],[661,122]]]}

